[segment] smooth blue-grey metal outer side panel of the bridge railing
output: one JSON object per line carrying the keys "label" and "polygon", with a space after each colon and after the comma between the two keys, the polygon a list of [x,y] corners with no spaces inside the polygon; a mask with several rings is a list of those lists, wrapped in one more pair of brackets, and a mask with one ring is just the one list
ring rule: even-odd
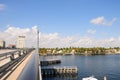
{"label": "smooth blue-grey metal outer side panel of the bridge railing", "polygon": [[39,80],[39,55],[37,53],[32,55],[17,80]]}

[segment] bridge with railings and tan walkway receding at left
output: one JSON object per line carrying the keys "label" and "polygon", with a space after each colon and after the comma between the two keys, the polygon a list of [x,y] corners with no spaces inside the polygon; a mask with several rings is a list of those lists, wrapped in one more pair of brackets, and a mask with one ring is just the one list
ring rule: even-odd
{"label": "bridge with railings and tan walkway receding at left", "polygon": [[0,52],[0,80],[42,80],[37,49],[5,51]]}

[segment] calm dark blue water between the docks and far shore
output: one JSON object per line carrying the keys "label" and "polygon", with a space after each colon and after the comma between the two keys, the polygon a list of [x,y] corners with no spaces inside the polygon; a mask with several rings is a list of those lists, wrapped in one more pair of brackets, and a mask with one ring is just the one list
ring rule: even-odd
{"label": "calm dark blue water between the docks and far shore", "polygon": [[94,75],[103,80],[104,75],[108,80],[120,80],[120,55],[99,56],[47,56],[41,59],[60,59],[61,64],[54,66],[77,66],[76,78],[47,78],[43,80],[81,80],[83,77]]}

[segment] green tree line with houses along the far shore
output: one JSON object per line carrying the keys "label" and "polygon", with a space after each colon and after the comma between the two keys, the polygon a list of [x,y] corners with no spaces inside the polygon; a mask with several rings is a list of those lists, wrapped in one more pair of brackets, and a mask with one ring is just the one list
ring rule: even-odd
{"label": "green tree line with houses along the far shore", "polygon": [[119,51],[120,47],[93,47],[93,48],[84,48],[84,47],[66,47],[66,48],[39,48],[39,53],[44,54],[66,54],[74,53],[80,55],[105,55],[108,53],[116,53]]}

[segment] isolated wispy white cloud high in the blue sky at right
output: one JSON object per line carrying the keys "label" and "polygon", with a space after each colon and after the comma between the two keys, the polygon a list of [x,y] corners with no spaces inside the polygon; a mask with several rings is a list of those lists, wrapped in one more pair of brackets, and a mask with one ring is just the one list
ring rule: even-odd
{"label": "isolated wispy white cloud high in the blue sky at right", "polygon": [[112,20],[108,21],[105,19],[104,16],[101,16],[101,17],[92,19],[90,23],[95,24],[95,25],[111,26],[116,20],[117,18],[113,18]]}

